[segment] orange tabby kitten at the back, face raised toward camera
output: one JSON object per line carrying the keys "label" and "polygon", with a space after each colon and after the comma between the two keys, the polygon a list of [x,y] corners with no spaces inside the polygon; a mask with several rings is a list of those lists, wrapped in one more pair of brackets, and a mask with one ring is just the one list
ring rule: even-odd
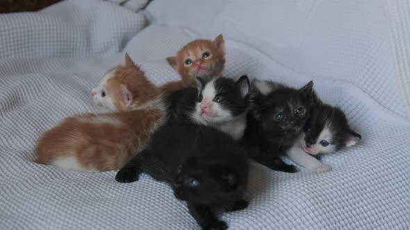
{"label": "orange tabby kitten at the back, face raised toward camera", "polygon": [[195,83],[196,77],[204,80],[222,76],[225,64],[224,38],[218,35],[211,39],[195,39],[183,46],[177,56],[167,57],[167,62],[174,68],[181,80],[168,82],[161,87],[169,92],[185,88]]}

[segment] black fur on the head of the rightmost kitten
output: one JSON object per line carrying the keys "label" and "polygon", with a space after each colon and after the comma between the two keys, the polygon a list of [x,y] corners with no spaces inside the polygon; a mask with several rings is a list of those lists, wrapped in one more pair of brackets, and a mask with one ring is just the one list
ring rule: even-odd
{"label": "black fur on the head of the rightmost kitten", "polygon": [[304,125],[304,141],[306,141],[306,145],[317,143],[319,134],[325,127],[325,124],[328,125],[333,136],[333,139],[327,141],[331,145],[336,146],[336,151],[345,147],[349,139],[361,140],[361,135],[350,128],[345,113],[340,108],[322,103],[315,94],[313,96],[315,103],[311,117]]}

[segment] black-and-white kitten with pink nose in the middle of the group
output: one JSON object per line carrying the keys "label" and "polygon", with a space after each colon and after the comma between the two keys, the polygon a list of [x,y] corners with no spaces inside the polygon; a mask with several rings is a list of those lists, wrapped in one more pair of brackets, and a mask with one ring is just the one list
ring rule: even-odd
{"label": "black-and-white kitten with pink nose in the middle of the group", "polygon": [[188,121],[215,127],[233,139],[241,139],[249,107],[249,80],[197,78],[197,88],[180,89],[167,98],[171,121]]}

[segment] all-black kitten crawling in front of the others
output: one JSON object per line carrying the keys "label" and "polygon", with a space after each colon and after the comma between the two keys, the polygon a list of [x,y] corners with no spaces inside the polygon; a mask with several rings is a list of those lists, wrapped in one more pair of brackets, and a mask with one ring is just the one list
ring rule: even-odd
{"label": "all-black kitten crawling in front of the others", "polygon": [[246,153],[227,134],[204,125],[168,123],[154,134],[150,148],[133,157],[115,179],[135,182],[145,172],[170,184],[202,229],[227,229],[215,209],[247,207],[243,193],[248,170]]}

